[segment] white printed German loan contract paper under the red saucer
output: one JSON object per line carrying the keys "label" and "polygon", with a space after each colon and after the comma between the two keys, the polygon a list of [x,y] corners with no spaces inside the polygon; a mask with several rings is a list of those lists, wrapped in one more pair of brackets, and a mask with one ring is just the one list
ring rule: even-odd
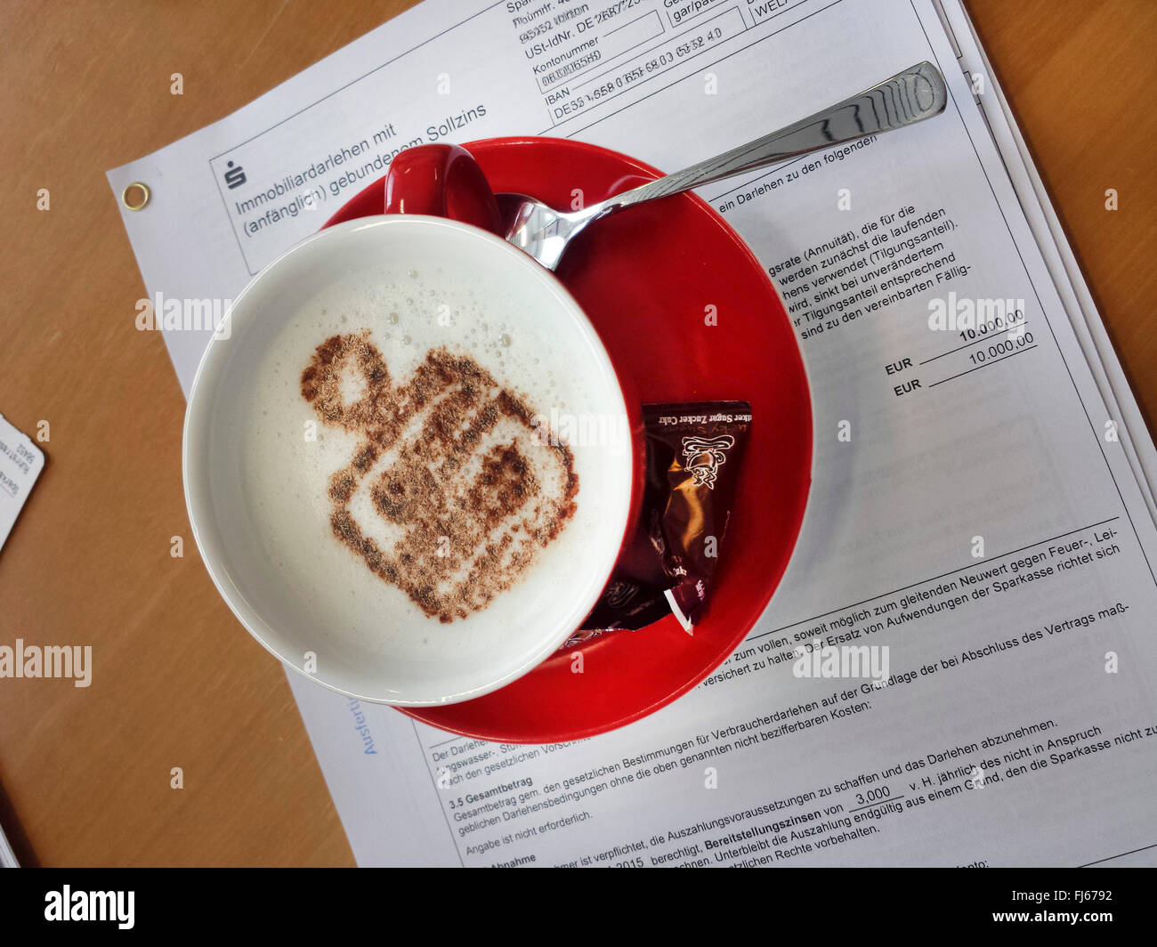
{"label": "white printed German loan contract paper under the red saucer", "polygon": [[[924,59],[943,116],[700,191],[775,280],[815,401],[803,533],[747,639],[671,706],[554,746],[290,674],[360,864],[1152,860],[1152,443],[1071,254],[1042,252],[1055,216],[957,3],[427,0],[109,179],[153,189],[124,220],[187,392],[209,333],[182,309],[406,146],[548,134],[676,170]],[[931,328],[965,301],[983,331]],[[884,687],[798,676],[817,640],[887,646]]]}

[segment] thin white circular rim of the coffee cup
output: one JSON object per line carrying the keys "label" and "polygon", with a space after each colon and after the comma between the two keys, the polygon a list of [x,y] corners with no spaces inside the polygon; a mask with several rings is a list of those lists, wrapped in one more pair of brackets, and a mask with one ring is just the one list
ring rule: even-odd
{"label": "thin white circular rim of the coffee cup", "polygon": [[[626,389],[622,384],[622,380],[619,375],[617,367],[611,360],[603,340],[598,336],[597,330],[591,323],[590,318],[583,311],[582,307],[577,301],[570,295],[566,286],[561,280],[551,271],[543,267],[532,257],[526,255],[523,250],[508,243],[506,240],[496,236],[495,234],[476,227],[471,223],[465,223],[457,220],[451,220],[448,218],[432,216],[425,214],[378,214],[371,216],[362,216],[353,220],[344,221],[341,223],[336,223],[329,226],[322,230],[318,230],[309,236],[304,237],[300,242],[295,243],[293,247],[279,254],[274,259],[267,263],[261,270],[253,276],[250,281],[245,285],[245,288],[233,300],[228,313],[222,320],[221,324],[213,332],[208,345],[201,354],[200,361],[197,366],[197,372],[193,376],[193,383],[189,390],[189,398],[185,408],[185,417],[182,431],[182,480],[184,487],[185,497],[185,509],[189,515],[190,528],[192,531],[193,541],[197,544],[198,551],[200,552],[201,560],[205,564],[205,568],[209,573],[209,578],[213,580],[218,594],[222,597],[229,610],[234,614],[234,617],[242,624],[242,626],[249,632],[249,634],[257,640],[270,654],[277,658],[283,666],[293,668],[297,674],[303,677],[320,684],[322,687],[340,693],[345,697],[353,698],[356,700],[363,700],[366,703],[390,705],[399,707],[425,707],[425,706],[442,706],[445,704],[460,703],[464,700],[470,700],[476,697],[481,697],[485,693],[499,690],[513,681],[522,677],[524,674],[532,670],[541,661],[547,659],[553,654],[562,644],[581,626],[581,624],[575,624],[570,626],[570,623],[565,623],[563,630],[557,632],[551,638],[543,639],[543,644],[531,654],[529,659],[523,661],[516,668],[509,669],[503,673],[496,680],[491,681],[487,684],[480,685],[478,688],[470,689],[465,692],[458,692],[441,697],[422,697],[418,699],[404,699],[404,698],[386,698],[381,695],[374,693],[361,693],[356,689],[342,687],[332,680],[325,680],[320,673],[307,671],[299,662],[288,656],[285,653],[285,636],[277,627],[274,627],[266,618],[259,614],[259,611],[252,607],[245,599],[242,589],[237,588],[229,574],[228,570],[223,564],[226,559],[226,550],[223,542],[220,536],[211,536],[215,533],[215,526],[213,524],[213,504],[207,493],[207,484],[205,483],[204,475],[207,474],[209,467],[208,461],[199,460],[196,453],[191,449],[191,442],[194,439],[207,440],[209,436],[208,421],[209,421],[209,405],[211,405],[211,391],[216,386],[213,382],[220,382],[220,379],[214,376],[214,372],[221,373],[223,368],[221,367],[221,346],[223,343],[229,340],[233,335],[233,322],[235,313],[244,313],[242,308],[246,300],[253,294],[258,284],[272,279],[271,273],[279,271],[279,267],[286,265],[286,260],[302,252],[307,247],[314,245],[318,242],[329,242],[339,240],[342,236],[356,232],[356,230],[368,230],[376,229],[383,226],[398,227],[398,226],[437,226],[444,227],[459,232],[469,232],[474,237],[484,238],[494,247],[502,248],[502,252],[508,254],[511,260],[516,260],[517,265],[525,265],[528,272],[533,271],[537,278],[547,285],[551,291],[558,296],[559,301],[562,303],[563,308],[569,310],[569,315],[578,326],[581,333],[587,337],[588,343],[592,344],[595,352],[598,354],[600,360],[605,362],[605,367],[609,369],[609,374],[614,380],[614,391],[617,395],[618,408],[621,409],[622,414],[628,416],[627,404],[626,404]],[[242,316],[243,318],[245,316]],[[632,441],[636,439],[636,432],[632,431]],[[624,463],[624,472],[621,476],[621,494],[626,498],[624,502],[620,504],[621,515],[617,516],[617,521],[621,522],[621,529],[617,529],[614,535],[618,536],[618,542],[614,546],[614,553],[611,556],[606,563],[605,570],[599,568],[599,581],[597,586],[592,586],[592,594],[587,596],[590,599],[589,602],[584,603],[581,609],[582,617],[577,621],[581,623],[590,610],[595,607],[602,594],[603,588],[605,588],[606,582],[610,580],[611,574],[614,571],[614,566],[618,561],[618,557],[622,551],[625,543],[627,542],[627,527],[631,521],[631,507],[633,499],[632,484],[635,477],[635,467],[638,465],[638,452],[635,449],[629,449],[626,453],[626,460]],[[204,454],[204,452],[202,452]],[[198,463],[201,465],[198,467]],[[193,484],[193,478],[198,475],[197,484]],[[197,492],[194,486],[200,486],[200,494],[194,495]],[[638,498],[635,498],[638,499]],[[602,515],[602,511],[600,511]]]}

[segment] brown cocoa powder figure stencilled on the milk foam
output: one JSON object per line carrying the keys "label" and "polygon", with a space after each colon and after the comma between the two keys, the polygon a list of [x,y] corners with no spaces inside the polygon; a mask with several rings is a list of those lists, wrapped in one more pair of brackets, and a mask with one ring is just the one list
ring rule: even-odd
{"label": "brown cocoa powder figure stencilled on the milk foam", "polygon": [[[395,386],[368,331],[332,336],[302,372],[301,394],[324,424],[359,438],[330,480],[333,535],[427,616],[452,622],[486,608],[575,513],[569,448],[469,355],[432,350]],[[367,489],[400,536],[389,548],[349,509]]]}

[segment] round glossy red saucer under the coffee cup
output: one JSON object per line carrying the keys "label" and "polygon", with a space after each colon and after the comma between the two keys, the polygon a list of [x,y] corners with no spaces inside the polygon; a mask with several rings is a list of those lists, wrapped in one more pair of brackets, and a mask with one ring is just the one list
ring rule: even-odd
{"label": "round glossy red saucer under the coffee cup", "polygon": [[[495,191],[567,208],[661,176],[578,141],[472,141]],[[383,181],[326,226],[379,214]],[[603,634],[555,654],[501,690],[404,710],[451,733],[503,743],[557,743],[621,727],[670,704],[747,636],[787,568],[811,485],[811,399],[795,330],[762,266],[707,204],[685,193],[607,218],[580,235],[558,276],[646,402],[751,402],[736,511],[694,634],[673,617]],[[716,325],[705,322],[715,307]]]}

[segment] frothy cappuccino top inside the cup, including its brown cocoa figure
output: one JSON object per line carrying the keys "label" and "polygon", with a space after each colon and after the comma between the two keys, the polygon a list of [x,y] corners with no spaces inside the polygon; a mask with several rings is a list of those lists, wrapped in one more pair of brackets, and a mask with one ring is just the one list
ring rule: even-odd
{"label": "frothy cappuccino top inside the cup, including its brown cocoa figure", "polygon": [[547,436],[591,392],[535,315],[430,266],[347,274],[285,320],[241,463],[252,530],[320,636],[462,656],[548,614],[605,456]]}

